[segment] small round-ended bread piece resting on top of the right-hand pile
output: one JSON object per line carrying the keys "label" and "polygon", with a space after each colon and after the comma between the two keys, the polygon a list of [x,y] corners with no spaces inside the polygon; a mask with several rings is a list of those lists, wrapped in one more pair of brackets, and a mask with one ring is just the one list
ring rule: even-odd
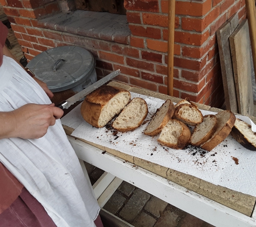
{"label": "small round-ended bread piece resting on top of the right-hand pile", "polygon": [[174,111],[174,118],[188,125],[196,125],[203,122],[202,112],[193,103],[178,105]]}

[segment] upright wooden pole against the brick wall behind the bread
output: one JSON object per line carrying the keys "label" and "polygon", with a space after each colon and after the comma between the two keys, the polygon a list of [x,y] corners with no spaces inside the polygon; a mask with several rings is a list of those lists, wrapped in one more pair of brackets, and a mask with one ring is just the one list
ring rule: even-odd
{"label": "upright wooden pole against the brick wall behind the bread", "polygon": [[168,2],[168,95],[174,95],[175,0]]}

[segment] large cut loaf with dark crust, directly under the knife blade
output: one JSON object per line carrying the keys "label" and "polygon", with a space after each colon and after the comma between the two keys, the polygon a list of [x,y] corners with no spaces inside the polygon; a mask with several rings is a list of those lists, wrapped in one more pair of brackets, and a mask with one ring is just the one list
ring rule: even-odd
{"label": "large cut loaf with dark crust, directly under the knife blade", "polygon": [[129,103],[130,93],[122,88],[101,86],[88,94],[81,105],[81,114],[94,127],[104,127]]}

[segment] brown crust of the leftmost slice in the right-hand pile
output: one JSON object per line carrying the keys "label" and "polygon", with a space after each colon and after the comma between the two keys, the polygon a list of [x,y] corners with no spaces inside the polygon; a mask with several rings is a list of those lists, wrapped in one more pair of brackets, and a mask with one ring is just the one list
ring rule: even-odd
{"label": "brown crust of the leftmost slice in the right-hand pile", "polygon": [[[165,101],[165,102],[163,103],[163,105],[164,105],[165,103],[167,103],[167,102],[168,102],[168,100]],[[162,106],[163,106],[163,105],[162,105]],[[155,116],[157,115],[157,113],[161,110],[161,108],[162,108],[162,107],[160,107],[160,108],[158,108],[158,109],[156,110],[155,115],[153,116],[153,118],[152,118],[151,121],[154,120],[154,117],[155,117]],[[174,115],[174,110],[175,110],[174,103],[172,103],[172,101],[170,100],[169,109],[168,109],[167,113],[165,114],[162,123],[157,127],[156,130],[154,130],[153,132],[150,132],[150,133],[147,133],[147,132],[146,132],[146,131],[147,131],[147,128],[146,128],[146,130],[144,131],[144,134],[146,134],[146,135],[148,135],[148,136],[156,136],[158,133],[160,133],[160,132],[162,131],[163,127],[164,127],[164,126],[169,122],[169,120],[172,118],[172,115]],[[151,122],[150,122],[150,123],[151,123]],[[150,124],[150,123],[149,123],[149,124]]]}

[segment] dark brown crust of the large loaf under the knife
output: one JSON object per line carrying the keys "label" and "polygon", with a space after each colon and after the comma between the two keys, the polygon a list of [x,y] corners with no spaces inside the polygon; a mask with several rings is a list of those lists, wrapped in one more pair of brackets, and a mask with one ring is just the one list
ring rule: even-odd
{"label": "dark brown crust of the large loaf under the knife", "polygon": [[[81,115],[85,121],[94,127],[103,127],[99,125],[99,117],[103,107],[117,94],[129,93],[129,91],[112,87],[101,86],[85,97],[81,104]],[[130,93],[129,93],[130,95]],[[114,117],[114,116],[113,116]]]}

